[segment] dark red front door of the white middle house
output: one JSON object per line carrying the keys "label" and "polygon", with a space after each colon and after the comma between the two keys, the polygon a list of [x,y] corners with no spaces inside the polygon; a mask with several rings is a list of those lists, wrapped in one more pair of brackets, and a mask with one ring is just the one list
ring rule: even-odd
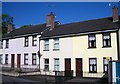
{"label": "dark red front door of the white middle house", "polygon": [[65,76],[71,76],[71,59],[65,59]]}

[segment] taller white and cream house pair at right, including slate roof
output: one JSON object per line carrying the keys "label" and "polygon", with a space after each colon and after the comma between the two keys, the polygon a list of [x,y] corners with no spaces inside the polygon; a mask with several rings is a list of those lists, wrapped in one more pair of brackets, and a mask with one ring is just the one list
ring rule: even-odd
{"label": "taller white and cream house pair at right, including slate roof", "polygon": [[107,74],[109,61],[119,60],[120,56],[116,9],[113,17],[60,25],[44,33],[40,38],[41,72],[55,75],[52,71],[59,71],[81,77]]}

